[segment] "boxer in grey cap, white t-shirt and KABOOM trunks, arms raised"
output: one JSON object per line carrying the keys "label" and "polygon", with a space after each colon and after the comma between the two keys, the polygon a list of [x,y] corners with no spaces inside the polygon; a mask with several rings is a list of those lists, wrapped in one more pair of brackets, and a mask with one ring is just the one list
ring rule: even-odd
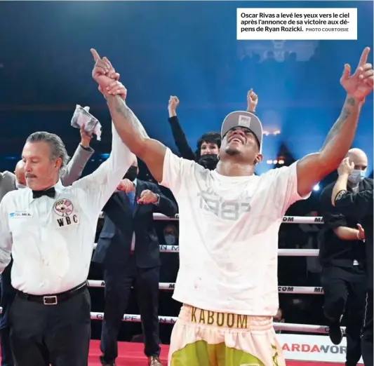
{"label": "boxer in grey cap, white t-shirt and KABOOM trunks, arms raised", "polygon": [[126,102],[104,90],[122,141],[171,189],[180,210],[173,297],[183,306],[168,365],[285,365],[272,325],[279,308],[279,226],[288,207],[307,198],[351,147],[363,100],[373,90],[369,51],[363,50],[352,76],[345,65],[340,83],[347,98],[321,150],[261,176],[255,175],[262,161],[255,114],[226,116],[220,161],[211,171],[149,138]]}

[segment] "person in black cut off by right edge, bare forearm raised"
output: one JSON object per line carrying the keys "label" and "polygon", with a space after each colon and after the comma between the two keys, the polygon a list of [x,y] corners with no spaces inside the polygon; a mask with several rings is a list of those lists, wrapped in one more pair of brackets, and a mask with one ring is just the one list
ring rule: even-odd
{"label": "person in black cut off by right edge, bare forearm raised", "polygon": [[357,194],[347,191],[347,179],[353,171],[352,163],[345,158],[338,170],[339,178],[333,188],[331,201],[347,216],[356,218],[365,231],[366,276],[368,292],[361,337],[361,352],[365,366],[373,366],[373,189]]}

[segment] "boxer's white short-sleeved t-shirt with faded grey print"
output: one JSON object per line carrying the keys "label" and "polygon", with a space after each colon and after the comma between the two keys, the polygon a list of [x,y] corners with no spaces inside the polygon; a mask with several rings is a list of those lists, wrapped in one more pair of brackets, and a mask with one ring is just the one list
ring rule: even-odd
{"label": "boxer's white short-sleeved t-shirt with faded grey print", "polygon": [[227,177],[167,149],[161,185],[179,206],[173,298],[209,311],[275,316],[279,226],[302,199],[296,163],[260,177]]}

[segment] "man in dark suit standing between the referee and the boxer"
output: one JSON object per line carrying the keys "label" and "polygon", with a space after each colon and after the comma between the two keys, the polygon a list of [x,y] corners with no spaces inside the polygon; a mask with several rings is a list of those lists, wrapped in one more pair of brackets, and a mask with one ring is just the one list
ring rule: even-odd
{"label": "man in dark suit standing between the referee and the boxer", "polygon": [[93,255],[93,262],[103,266],[105,280],[105,315],[100,344],[102,365],[115,365],[119,328],[131,287],[135,285],[148,365],[161,366],[160,259],[153,213],[174,216],[178,208],[163,196],[156,184],[136,179],[137,175],[138,161],[134,161],[103,209],[105,222]]}

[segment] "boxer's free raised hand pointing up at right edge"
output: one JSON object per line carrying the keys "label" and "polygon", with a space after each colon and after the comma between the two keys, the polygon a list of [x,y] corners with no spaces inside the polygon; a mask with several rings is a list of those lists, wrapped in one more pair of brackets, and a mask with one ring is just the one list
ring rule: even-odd
{"label": "boxer's free raised hand pointing up at right edge", "polygon": [[349,95],[364,100],[373,91],[373,65],[368,63],[370,48],[366,47],[361,55],[359,65],[351,76],[351,67],[347,64],[340,79],[342,87]]}

